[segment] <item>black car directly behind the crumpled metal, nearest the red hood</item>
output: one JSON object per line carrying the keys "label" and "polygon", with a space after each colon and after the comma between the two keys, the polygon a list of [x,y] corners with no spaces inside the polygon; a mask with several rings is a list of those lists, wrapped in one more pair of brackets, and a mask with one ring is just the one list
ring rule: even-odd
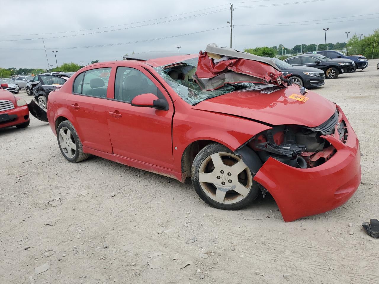
{"label": "black car directly behind the crumpled metal, nearest the red hood", "polygon": [[[268,58],[268,57],[265,57]],[[290,78],[295,83],[306,87],[319,87],[325,84],[325,75],[324,71],[314,67],[307,66],[292,66],[287,62],[284,62],[277,58],[269,58],[275,62],[276,66],[282,70],[283,75],[292,73]]]}

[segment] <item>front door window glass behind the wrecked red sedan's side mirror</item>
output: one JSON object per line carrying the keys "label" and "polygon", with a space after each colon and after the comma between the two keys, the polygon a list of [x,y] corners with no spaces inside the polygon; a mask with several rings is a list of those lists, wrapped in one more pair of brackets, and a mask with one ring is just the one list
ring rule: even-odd
{"label": "front door window glass behind the wrecked red sedan's side mirror", "polygon": [[147,93],[164,98],[158,87],[141,71],[128,67],[117,68],[114,99],[130,103],[134,97]]}

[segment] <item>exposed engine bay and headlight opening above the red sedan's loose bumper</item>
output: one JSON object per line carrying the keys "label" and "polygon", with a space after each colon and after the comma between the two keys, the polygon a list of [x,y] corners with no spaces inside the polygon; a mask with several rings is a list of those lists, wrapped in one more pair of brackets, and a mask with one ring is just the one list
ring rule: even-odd
{"label": "exposed engine bay and headlight opening above the red sedan's loose bumper", "polygon": [[341,142],[346,142],[346,125],[343,120],[339,120],[337,110],[318,127],[274,126],[254,136],[247,146],[256,151],[263,163],[271,157],[292,167],[306,169],[323,164],[337,152],[324,139],[325,135],[338,135]]}

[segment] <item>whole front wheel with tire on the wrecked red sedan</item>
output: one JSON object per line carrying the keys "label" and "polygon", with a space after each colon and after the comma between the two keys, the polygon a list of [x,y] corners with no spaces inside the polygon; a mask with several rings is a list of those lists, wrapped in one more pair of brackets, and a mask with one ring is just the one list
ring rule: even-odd
{"label": "whole front wheel with tire on the wrecked red sedan", "polygon": [[208,144],[196,155],[191,178],[200,198],[218,209],[241,209],[251,204],[259,192],[242,159],[218,143]]}

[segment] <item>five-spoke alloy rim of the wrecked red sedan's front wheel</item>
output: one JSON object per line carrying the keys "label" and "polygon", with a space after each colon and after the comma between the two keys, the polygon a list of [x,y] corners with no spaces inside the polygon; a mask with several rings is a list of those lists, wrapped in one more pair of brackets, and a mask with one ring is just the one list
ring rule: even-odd
{"label": "five-spoke alloy rim of the wrecked red sedan's front wheel", "polygon": [[211,154],[200,164],[199,182],[208,197],[219,203],[232,204],[248,195],[253,179],[241,158],[221,152]]}

